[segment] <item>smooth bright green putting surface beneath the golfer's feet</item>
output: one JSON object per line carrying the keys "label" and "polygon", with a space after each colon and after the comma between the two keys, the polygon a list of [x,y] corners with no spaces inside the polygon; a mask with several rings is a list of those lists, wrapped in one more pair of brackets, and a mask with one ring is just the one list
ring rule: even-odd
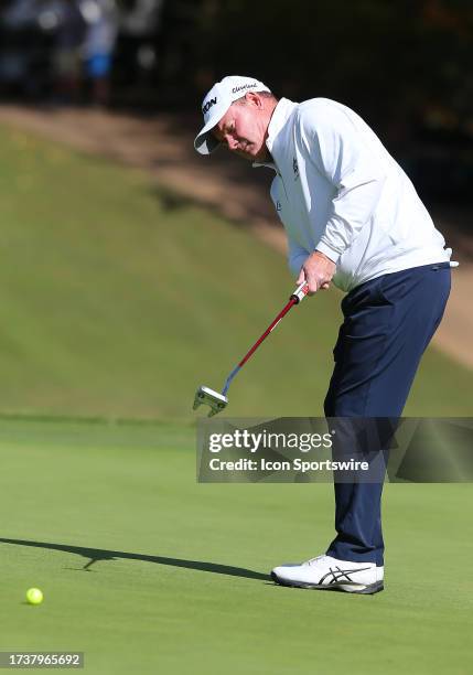
{"label": "smooth bright green putting surface beneath the golfer's feet", "polygon": [[470,671],[471,485],[386,486],[383,593],[288,589],[266,575],[321,551],[332,486],[200,485],[193,446],[185,425],[0,421],[2,651],[100,675]]}

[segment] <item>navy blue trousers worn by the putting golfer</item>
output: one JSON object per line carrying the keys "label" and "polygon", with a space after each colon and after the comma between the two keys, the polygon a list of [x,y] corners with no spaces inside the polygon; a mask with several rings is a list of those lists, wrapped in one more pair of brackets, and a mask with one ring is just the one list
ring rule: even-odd
{"label": "navy blue trousers worn by the putting golfer", "polygon": [[[326,417],[399,417],[450,293],[448,262],[384,275],[342,301]],[[327,555],[384,565],[383,483],[335,483],[336,537]]]}

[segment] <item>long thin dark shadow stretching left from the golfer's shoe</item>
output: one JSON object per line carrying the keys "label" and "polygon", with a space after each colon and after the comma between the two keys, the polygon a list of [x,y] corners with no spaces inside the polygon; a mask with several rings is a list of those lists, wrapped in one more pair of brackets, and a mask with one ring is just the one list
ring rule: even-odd
{"label": "long thin dark shadow stretching left from the golfer's shoe", "polygon": [[171,565],[172,567],[184,567],[186,569],[200,569],[201,571],[213,572],[214,575],[227,575],[230,577],[245,577],[247,579],[258,579],[268,581],[269,575],[245,569],[243,567],[230,567],[228,565],[217,565],[215,562],[202,562],[201,560],[181,560],[180,558],[164,558],[162,556],[146,556],[141,554],[125,553],[122,550],[103,550],[100,548],[84,548],[82,546],[67,546],[65,544],[49,544],[47,542],[26,542],[23,539],[3,539],[1,544],[12,544],[14,546],[33,546],[35,548],[46,548],[50,550],[63,550],[72,553],[83,558],[87,558],[88,562],[82,568],[84,571],[89,571],[90,567],[98,561],[104,560],[144,560],[146,562],[157,562],[158,565]]}

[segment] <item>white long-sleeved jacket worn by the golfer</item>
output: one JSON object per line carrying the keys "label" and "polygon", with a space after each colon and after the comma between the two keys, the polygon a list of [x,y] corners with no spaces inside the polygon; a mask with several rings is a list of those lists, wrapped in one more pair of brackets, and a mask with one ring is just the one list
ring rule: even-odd
{"label": "white long-sleeved jacket worn by the golfer", "polygon": [[[336,262],[334,283],[350,291],[380,275],[450,260],[411,181],[374,131],[326,98],[282,98],[266,141],[276,171],[271,199],[298,275],[320,250]],[[255,164],[259,165],[259,164]]]}

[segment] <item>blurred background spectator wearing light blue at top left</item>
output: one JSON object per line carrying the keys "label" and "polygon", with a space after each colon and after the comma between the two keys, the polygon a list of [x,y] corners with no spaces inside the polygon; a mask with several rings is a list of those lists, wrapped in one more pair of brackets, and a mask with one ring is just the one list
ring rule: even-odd
{"label": "blurred background spectator wearing light blue at top left", "polygon": [[84,57],[86,73],[92,81],[92,98],[95,105],[106,106],[110,100],[110,73],[119,13],[115,0],[86,0],[82,8],[87,21]]}

